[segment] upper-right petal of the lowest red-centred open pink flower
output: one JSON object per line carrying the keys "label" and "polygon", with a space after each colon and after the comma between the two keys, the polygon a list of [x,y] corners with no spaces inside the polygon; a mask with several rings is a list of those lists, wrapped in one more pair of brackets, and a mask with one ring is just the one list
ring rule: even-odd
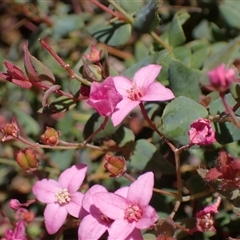
{"label": "upper-right petal of the lowest red-centred open pink flower", "polygon": [[152,172],[147,172],[139,176],[129,187],[128,200],[138,206],[148,205],[152,197],[153,184]]}

